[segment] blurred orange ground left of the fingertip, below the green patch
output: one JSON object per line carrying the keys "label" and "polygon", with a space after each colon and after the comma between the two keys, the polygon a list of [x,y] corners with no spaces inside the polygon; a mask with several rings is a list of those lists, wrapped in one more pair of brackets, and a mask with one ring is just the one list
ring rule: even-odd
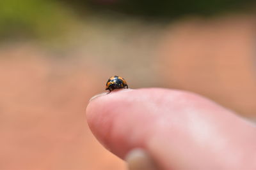
{"label": "blurred orange ground left of the fingertip, below the green patch", "polygon": [[97,73],[76,61],[51,60],[34,46],[0,55],[0,169],[124,167],[86,125],[86,104],[99,88]]}

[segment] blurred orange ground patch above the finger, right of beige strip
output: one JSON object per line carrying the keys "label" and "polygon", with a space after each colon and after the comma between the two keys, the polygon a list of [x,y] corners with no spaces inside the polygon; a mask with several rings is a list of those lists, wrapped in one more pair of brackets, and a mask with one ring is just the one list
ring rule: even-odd
{"label": "blurred orange ground patch above the finger, right of beige strip", "polygon": [[161,51],[166,83],[255,117],[255,30],[255,18],[243,15],[174,25]]}

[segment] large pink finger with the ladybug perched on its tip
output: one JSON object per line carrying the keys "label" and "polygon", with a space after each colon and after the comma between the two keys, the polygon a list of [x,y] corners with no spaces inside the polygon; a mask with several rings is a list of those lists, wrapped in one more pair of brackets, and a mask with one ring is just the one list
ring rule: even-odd
{"label": "large pink finger with the ladybug perched on its tip", "polygon": [[256,127],[191,92],[121,89],[90,101],[96,138],[121,159],[143,148],[159,169],[256,169]]}

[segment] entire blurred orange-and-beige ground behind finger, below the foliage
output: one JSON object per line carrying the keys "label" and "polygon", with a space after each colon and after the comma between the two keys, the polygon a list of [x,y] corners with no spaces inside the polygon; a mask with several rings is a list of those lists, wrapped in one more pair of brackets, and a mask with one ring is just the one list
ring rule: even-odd
{"label": "entire blurred orange-and-beige ground behind finger, below the foliage", "polygon": [[125,169],[85,118],[88,99],[114,74],[132,89],[191,90],[256,117],[253,17],[90,23],[61,45],[1,45],[0,169]]}

